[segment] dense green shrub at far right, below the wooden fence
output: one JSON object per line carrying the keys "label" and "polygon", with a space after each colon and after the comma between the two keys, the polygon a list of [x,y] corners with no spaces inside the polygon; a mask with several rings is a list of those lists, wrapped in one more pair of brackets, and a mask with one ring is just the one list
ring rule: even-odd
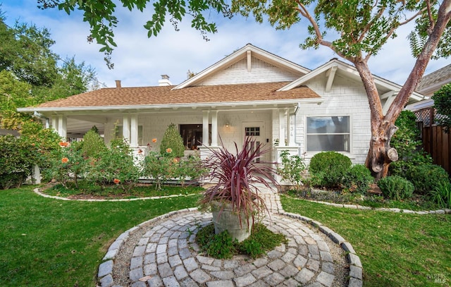
{"label": "dense green shrub at far right, below the wooden fence", "polygon": [[439,185],[449,183],[448,173],[436,164],[412,166],[407,172],[407,179],[415,186],[415,193],[426,195]]}

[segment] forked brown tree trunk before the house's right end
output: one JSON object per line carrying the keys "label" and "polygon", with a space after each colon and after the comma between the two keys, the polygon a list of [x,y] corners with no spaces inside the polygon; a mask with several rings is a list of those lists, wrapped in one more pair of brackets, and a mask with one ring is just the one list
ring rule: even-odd
{"label": "forked brown tree trunk before the house's right end", "polygon": [[450,22],[450,18],[451,0],[444,0],[440,5],[438,18],[429,35],[428,41],[416,59],[415,66],[412,68],[409,78],[407,78],[406,83],[404,83],[400,92],[398,92],[385,116],[383,115],[381,99],[379,98],[373,75],[371,75],[366,61],[357,58],[354,59],[354,65],[357,71],[359,71],[360,78],[362,78],[371,110],[371,140],[365,164],[376,178],[376,181],[386,176],[390,163],[397,160],[396,149],[390,147],[390,140],[397,130],[395,126],[396,118],[400,115],[409,97],[421,80],[426,66],[440,41],[440,37],[443,35],[447,23]]}

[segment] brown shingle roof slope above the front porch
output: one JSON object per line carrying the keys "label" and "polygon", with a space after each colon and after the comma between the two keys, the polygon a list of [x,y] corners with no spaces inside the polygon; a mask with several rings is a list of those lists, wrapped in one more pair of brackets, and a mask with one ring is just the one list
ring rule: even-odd
{"label": "brown shingle roof slope above the front porch", "polygon": [[40,104],[39,107],[137,106],[319,98],[316,92],[306,86],[286,92],[276,92],[288,83],[209,85],[185,87],[179,90],[171,90],[173,86],[104,88]]}

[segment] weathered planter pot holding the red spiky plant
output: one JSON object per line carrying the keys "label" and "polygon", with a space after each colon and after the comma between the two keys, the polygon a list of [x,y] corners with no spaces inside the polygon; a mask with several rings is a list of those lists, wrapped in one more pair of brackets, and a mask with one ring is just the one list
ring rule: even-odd
{"label": "weathered planter pot holding the red spiky plant", "polygon": [[241,212],[241,222],[238,213],[233,211],[232,204],[223,204],[221,211],[221,205],[219,203],[212,204],[211,212],[213,213],[214,231],[216,234],[223,231],[228,231],[230,236],[238,242],[245,240],[251,235],[252,231],[252,218],[249,219],[249,225],[247,224],[246,216]]}

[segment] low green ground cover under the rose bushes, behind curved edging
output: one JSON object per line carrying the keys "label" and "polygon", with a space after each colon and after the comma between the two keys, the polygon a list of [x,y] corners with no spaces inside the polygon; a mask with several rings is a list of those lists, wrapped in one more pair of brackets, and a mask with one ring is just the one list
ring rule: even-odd
{"label": "low green ground cover under the rose bushes, behind curved edging", "polygon": [[61,184],[54,185],[44,193],[61,197],[70,197],[73,195],[95,195],[105,198],[136,198],[136,197],[158,197],[166,195],[192,195],[201,193],[204,189],[195,185],[162,185],[161,190],[156,190],[155,185],[135,185],[126,193],[119,185],[109,185],[101,189],[99,185],[93,185],[87,181],[80,181],[78,188],[75,188],[73,182],[68,183],[68,188]]}

